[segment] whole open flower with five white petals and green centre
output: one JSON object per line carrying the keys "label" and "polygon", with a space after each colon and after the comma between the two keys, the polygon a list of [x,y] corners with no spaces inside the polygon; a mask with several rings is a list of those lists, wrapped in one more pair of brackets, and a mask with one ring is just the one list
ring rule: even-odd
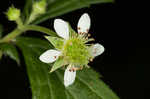
{"label": "whole open flower with five white petals and green centre", "polygon": [[67,87],[75,81],[76,71],[87,67],[90,60],[104,52],[104,47],[98,43],[88,44],[92,41],[89,38],[90,17],[87,13],[79,19],[76,33],[70,25],[62,19],[54,20],[54,29],[59,37],[46,36],[54,45],[55,49],[50,49],[40,56],[40,60],[45,63],[56,61],[51,69],[56,69],[66,65],[64,74],[64,85]]}

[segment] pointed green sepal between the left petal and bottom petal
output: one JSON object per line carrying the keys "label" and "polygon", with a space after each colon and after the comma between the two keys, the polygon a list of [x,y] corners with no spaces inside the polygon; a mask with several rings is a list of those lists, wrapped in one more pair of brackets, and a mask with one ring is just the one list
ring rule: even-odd
{"label": "pointed green sepal between the left petal and bottom petal", "polygon": [[60,67],[62,67],[64,65],[65,65],[65,61],[64,61],[63,58],[60,57],[59,59],[56,60],[56,62],[52,66],[52,69],[51,69],[50,72],[53,72],[53,71],[57,70],[58,68],[60,68]]}

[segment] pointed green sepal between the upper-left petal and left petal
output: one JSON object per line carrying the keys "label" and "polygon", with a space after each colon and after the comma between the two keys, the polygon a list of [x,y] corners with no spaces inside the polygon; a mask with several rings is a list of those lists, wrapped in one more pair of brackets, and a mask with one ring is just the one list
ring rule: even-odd
{"label": "pointed green sepal between the upper-left petal and left petal", "polygon": [[52,43],[52,45],[56,48],[61,50],[64,44],[64,40],[62,38],[58,37],[52,37],[52,36],[45,36],[45,38]]}

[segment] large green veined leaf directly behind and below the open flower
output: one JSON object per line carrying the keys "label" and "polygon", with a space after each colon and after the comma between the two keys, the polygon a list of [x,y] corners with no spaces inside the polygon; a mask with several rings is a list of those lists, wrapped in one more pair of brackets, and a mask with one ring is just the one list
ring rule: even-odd
{"label": "large green veined leaf directly behind and below the open flower", "polygon": [[50,49],[49,42],[18,37],[16,44],[25,58],[32,99],[119,99],[92,69],[77,71],[75,83],[65,88],[64,70],[58,69],[49,73],[51,65],[39,60],[39,56]]}

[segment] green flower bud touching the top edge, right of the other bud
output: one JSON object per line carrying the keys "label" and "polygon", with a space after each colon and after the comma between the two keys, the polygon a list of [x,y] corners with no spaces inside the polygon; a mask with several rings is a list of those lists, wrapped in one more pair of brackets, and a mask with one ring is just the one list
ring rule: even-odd
{"label": "green flower bud touching the top edge, right of the other bud", "polygon": [[38,2],[35,2],[33,4],[33,12],[36,14],[43,14],[46,11],[46,1],[41,0]]}

